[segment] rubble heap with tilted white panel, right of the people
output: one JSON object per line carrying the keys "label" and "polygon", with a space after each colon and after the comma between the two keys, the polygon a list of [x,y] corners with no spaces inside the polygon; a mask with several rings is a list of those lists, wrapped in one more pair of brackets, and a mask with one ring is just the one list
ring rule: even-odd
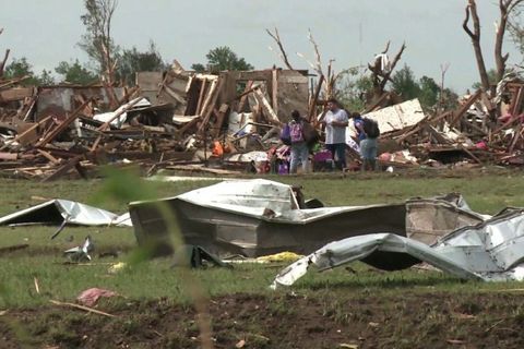
{"label": "rubble heap with tilted white panel, right of the people", "polygon": [[[425,116],[416,100],[370,112],[383,132],[383,166],[524,165],[524,81],[508,77],[497,95],[477,91],[456,110]],[[402,125],[402,127],[401,127]]]}

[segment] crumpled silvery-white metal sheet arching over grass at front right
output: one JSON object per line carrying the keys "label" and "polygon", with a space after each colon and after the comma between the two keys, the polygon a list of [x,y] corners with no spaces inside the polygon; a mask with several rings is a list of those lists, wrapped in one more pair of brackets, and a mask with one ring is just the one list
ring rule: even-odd
{"label": "crumpled silvery-white metal sheet arching over grass at front right", "polygon": [[432,246],[392,233],[335,241],[287,266],[272,287],[293,285],[311,264],[323,270],[384,252],[407,254],[460,278],[523,280],[524,209],[507,209],[476,226],[460,228]]}

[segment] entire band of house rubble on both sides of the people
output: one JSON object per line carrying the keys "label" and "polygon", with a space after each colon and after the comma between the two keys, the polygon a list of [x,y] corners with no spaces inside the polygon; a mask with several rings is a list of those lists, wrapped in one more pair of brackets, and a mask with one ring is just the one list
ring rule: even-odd
{"label": "entire band of house rubble on both sides of the people", "polygon": [[[323,107],[308,71],[276,68],[200,74],[174,64],[138,73],[134,87],[22,87],[21,81],[0,77],[0,176],[41,181],[87,177],[107,164],[139,165],[145,176],[287,173],[282,124],[294,109],[314,124]],[[418,100],[397,103],[385,93],[365,116],[380,125],[383,168],[523,165],[523,98],[524,81],[514,75],[495,98],[477,91],[456,110],[427,116]],[[347,134],[348,164],[358,168],[352,124]],[[312,168],[329,169],[318,164],[329,158],[313,155]]]}

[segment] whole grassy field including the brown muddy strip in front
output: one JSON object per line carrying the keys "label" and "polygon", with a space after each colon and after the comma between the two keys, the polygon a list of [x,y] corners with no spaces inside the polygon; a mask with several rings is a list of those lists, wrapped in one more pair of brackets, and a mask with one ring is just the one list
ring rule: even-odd
{"label": "whole grassy field including the brown muddy strip in front", "polygon": [[[393,203],[449,192],[461,192],[474,210],[486,214],[524,206],[524,176],[501,169],[269,179],[300,184],[307,197],[318,197],[329,206]],[[128,173],[114,173],[108,180],[52,183],[1,180],[0,216],[55,197],[123,213],[129,201],[171,196],[211,183],[213,179],[151,182]],[[203,311],[210,313],[210,336],[218,348],[231,348],[241,340],[246,348],[524,345],[519,329],[524,324],[519,282],[463,281],[420,269],[385,273],[356,263],[350,268],[310,273],[291,289],[275,292],[267,286],[285,264],[241,264],[187,273],[171,267],[169,258],[133,262],[132,228],[67,227],[50,240],[56,228],[0,227],[0,250],[28,244],[0,254],[1,348],[198,348],[204,342],[196,339],[201,327],[199,306],[193,304],[195,292],[202,296],[199,302],[205,303]],[[66,264],[62,251],[79,245],[87,234],[96,245],[93,262]],[[118,262],[131,266],[109,273]],[[74,302],[82,290],[92,287],[121,296],[98,306],[117,318],[49,303]]]}

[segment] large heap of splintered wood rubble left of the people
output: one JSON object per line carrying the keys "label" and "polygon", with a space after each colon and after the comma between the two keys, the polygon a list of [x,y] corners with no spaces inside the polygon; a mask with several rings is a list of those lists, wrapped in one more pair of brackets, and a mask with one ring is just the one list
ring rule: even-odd
{"label": "large heap of splintered wood rubble left of the people", "polygon": [[174,67],[139,73],[133,88],[19,82],[0,80],[0,174],[43,181],[105,164],[138,164],[146,174],[245,170],[278,142],[277,115],[307,110],[309,92],[307,72],[277,69],[211,75]]}

